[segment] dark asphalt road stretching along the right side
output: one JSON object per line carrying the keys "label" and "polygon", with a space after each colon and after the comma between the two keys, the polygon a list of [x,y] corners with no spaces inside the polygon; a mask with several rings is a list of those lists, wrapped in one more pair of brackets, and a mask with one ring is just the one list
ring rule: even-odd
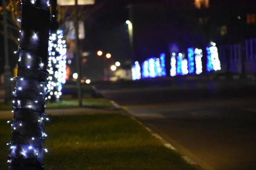
{"label": "dark asphalt road stretching along the right side", "polygon": [[102,91],[206,170],[256,170],[256,85]]}

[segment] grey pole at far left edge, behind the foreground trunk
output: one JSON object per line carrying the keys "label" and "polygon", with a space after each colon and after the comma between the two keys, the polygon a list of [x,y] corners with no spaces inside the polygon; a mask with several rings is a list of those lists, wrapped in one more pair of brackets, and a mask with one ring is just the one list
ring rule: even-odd
{"label": "grey pole at far left edge, behind the foreground trunk", "polygon": [[10,79],[12,77],[9,65],[9,48],[8,48],[8,29],[7,29],[7,11],[6,11],[6,0],[2,0],[3,5],[3,32],[4,32],[4,87],[5,87],[5,97],[4,103],[9,104],[12,98],[12,89]]}

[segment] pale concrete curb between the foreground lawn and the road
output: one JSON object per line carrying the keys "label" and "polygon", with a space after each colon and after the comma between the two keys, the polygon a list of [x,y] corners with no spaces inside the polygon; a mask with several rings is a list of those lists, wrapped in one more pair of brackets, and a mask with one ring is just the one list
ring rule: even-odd
{"label": "pale concrete curb between the foreground lawn and the road", "polygon": [[[127,113],[127,115],[129,117],[131,117],[131,119],[135,120],[136,122],[138,122],[141,126],[143,126],[149,133],[151,133],[152,136],[154,136],[155,138],[159,139],[162,143],[163,146],[165,146],[168,149],[171,149],[177,153],[178,150],[172,146],[172,144],[166,142],[166,140],[164,140],[161,136],[159,136],[157,133],[154,133],[150,128],[148,128],[146,125],[144,125],[142,122],[140,122],[136,116],[134,116],[134,113],[132,111],[130,111],[129,109],[124,109],[123,110]],[[180,154],[180,153],[179,153]],[[195,161],[193,161],[192,159],[190,159],[188,156],[185,155],[181,155],[181,157],[190,165],[192,165],[193,167],[197,168],[198,170],[205,170],[204,168],[202,168],[199,164],[197,164]]]}

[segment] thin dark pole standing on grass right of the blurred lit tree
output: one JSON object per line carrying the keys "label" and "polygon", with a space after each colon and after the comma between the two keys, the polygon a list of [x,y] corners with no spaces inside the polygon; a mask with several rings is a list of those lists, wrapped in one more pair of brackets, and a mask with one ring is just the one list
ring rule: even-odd
{"label": "thin dark pole standing on grass right of the blurred lit tree", "polygon": [[79,52],[79,8],[78,8],[78,0],[75,0],[75,12],[76,12],[76,19],[75,19],[75,42],[76,42],[76,68],[77,68],[77,96],[79,101],[79,106],[82,107],[82,86],[81,86],[81,57]]}

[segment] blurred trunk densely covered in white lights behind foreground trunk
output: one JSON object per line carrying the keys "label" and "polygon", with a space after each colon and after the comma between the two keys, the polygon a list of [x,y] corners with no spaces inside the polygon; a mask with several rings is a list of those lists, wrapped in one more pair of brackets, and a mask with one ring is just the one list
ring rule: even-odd
{"label": "blurred trunk densely covered in white lights behind foreground trunk", "polygon": [[47,88],[50,91],[48,99],[57,102],[61,96],[62,84],[66,82],[66,41],[63,40],[63,31],[53,32],[49,37],[48,71],[49,81]]}

